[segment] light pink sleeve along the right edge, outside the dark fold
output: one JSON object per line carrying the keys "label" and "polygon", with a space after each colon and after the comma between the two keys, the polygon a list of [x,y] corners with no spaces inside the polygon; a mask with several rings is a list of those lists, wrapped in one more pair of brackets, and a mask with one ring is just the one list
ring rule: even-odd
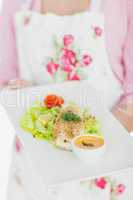
{"label": "light pink sleeve along the right edge, outside the dark fold", "polygon": [[133,102],[133,1],[128,1],[128,32],[124,46],[124,90],[127,103]]}

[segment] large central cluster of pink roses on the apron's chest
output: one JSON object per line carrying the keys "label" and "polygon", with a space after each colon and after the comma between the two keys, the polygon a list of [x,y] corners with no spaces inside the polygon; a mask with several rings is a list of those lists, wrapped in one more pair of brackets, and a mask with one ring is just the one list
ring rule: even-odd
{"label": "large central cluster of pink roses on the apron's chest", "polygon": [[[81,72],[83,67],[91,66],[93,58],[89,52],[79,55],[80,49],[76,50],[74,40],[74,36],[70,34],[64,35],[61,42],[56,39],[54,49],[58,57],[52,56],[45,65],[48,73],[54,80],[59,79],[58,72],[65,74],[63,81],[77,81],[86,77],[83,77]],[[59,76],[61,76],[61,73],[59,73]]]}

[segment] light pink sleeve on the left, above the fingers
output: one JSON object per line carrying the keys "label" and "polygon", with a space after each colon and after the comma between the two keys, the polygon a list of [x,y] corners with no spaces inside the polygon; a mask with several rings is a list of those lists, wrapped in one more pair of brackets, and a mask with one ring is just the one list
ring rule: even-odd
{"label": "light pink sleeve on the left, above the fingers", "polygon": [[0,20],[0,86],[18,76],[17,52],[13,17],[20,1],[3,0]]}

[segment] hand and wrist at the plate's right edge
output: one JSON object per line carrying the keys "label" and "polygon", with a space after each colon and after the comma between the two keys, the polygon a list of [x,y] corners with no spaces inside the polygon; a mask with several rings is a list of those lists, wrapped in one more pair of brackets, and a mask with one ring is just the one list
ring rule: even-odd
{"label": "hand and wrist at the plate's right edge", "polygon": [[115,106],[112,113],[129,132],[133,131],[133,104]]}

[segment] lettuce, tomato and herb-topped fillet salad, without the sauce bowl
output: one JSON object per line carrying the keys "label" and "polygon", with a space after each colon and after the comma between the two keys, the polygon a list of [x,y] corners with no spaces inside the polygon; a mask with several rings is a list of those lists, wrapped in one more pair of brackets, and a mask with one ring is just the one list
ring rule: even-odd
{"label": "lettuce, tomato and herb-topped fillet salad, without the sauce bowl", "polygon": [[66,104],[62,97],[54,94],[34,103],[22,117],[20,126],[34,138],[65,150],[71,150],[71,141],[76,136],[101,136],[100,123],[87,109],[75,103]]}

